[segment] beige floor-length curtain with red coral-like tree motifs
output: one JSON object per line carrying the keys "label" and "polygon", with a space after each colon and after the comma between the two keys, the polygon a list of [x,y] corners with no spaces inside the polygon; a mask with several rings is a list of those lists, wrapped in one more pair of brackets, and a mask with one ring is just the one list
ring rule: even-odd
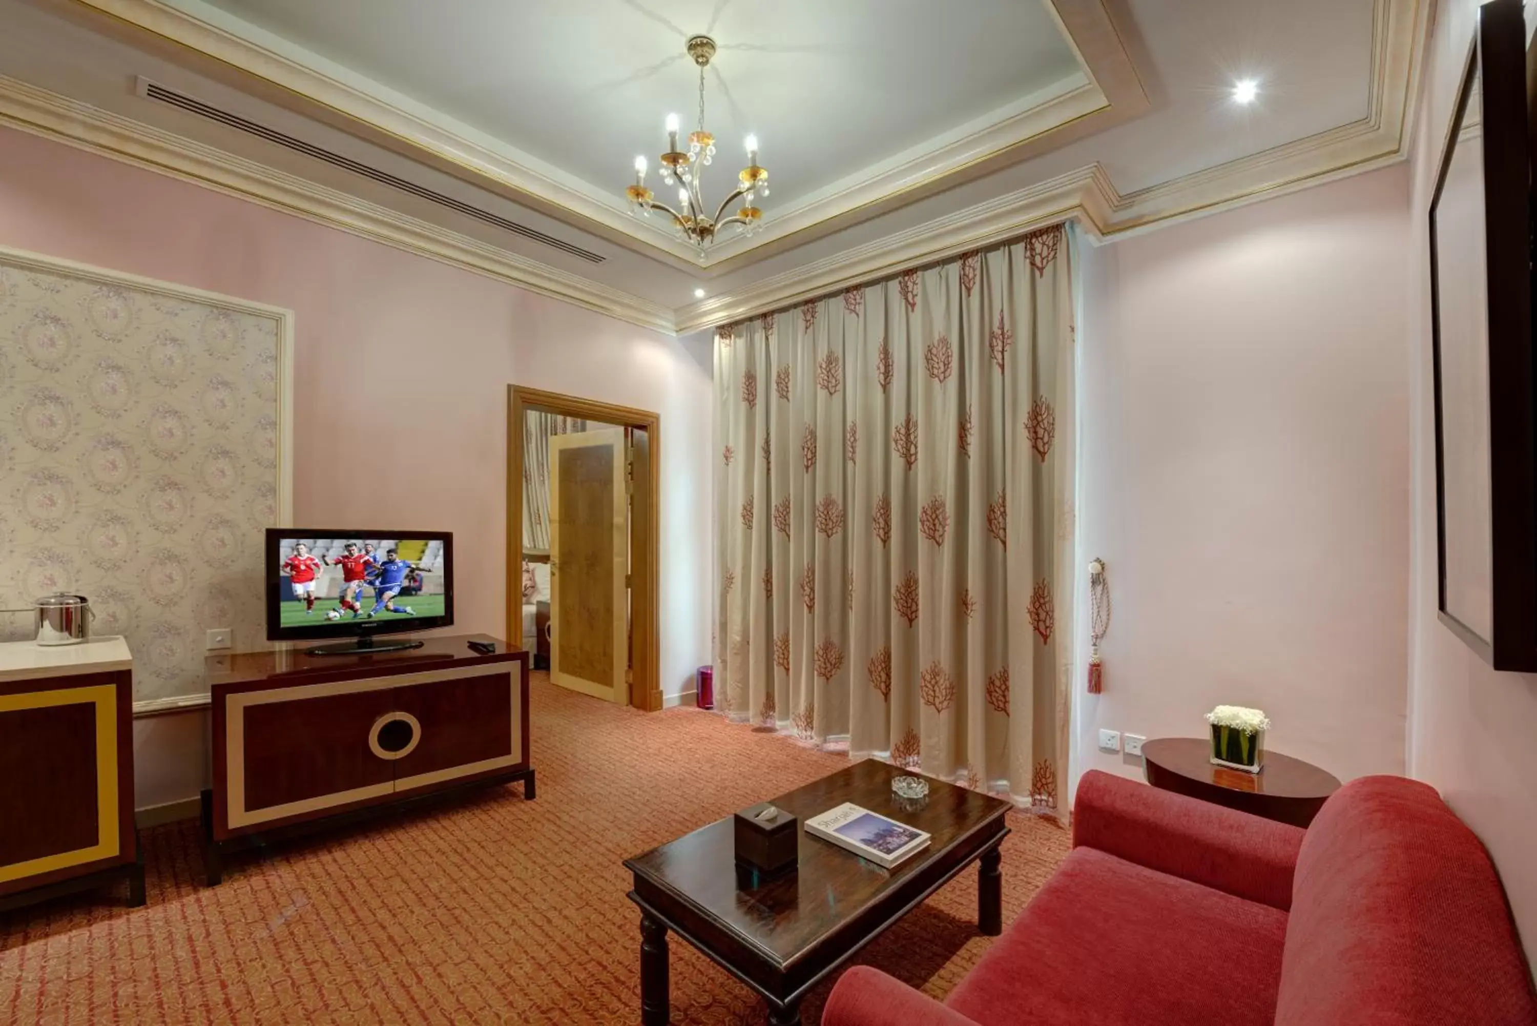
{"label": "beige floor-length curtain with red coral-like tree motifs", "polygon": [[716,335],[733,718],[1065,803],[1067,245],[1053,226]]}

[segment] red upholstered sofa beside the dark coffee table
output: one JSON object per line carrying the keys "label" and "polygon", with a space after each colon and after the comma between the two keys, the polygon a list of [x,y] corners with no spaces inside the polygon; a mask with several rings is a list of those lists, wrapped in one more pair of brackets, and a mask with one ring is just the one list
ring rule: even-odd
{"label": "red upholstered sofa beside the dark coffee table", "polygon": [[[1534,852],[1537,857],[1537,852]],[[1366,777],[1313,826],[1088,772],[1073,852],[944,1004],[867,966],[822,1026],[1534,1026],[1483,846]]]}

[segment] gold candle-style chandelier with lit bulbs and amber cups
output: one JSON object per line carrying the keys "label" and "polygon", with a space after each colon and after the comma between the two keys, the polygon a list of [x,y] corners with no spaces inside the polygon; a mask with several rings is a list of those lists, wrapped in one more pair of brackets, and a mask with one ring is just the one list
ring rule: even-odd
{"label": "gold candle-style chandelier with lit bulbs and amber cups", "polygon": [[[725,197],[712,217],[704,205],[704,194],[699,189],[702,171],[715,158],[715,135],[704,131],[704,69],[715,57],[715,40],[709,35],[695,35],[687,45],[689,57],[699,66],[699,122],[689,134],[689,149],[678,149],[678,115],[667,115],[667,152],[661,155],[662,185],[678,186],[678,209],[659,203],[655,194],[646,188],[646,157],[635,158],[635,185],[626,189],[630,198],[630,215],[650,217],[652,211],[662,211],[673,222],[673,229],[679,238],[698,248],[702,258],[710,243],[722,228],[735,225],[744,235],[755,234],[762,226],[762,211],[755,203],[758,197],[768,195],[768,172],[758,166],[758,137],[749,135],[747,168],[736,175],[736,189]],[[742,206],[725,215],[729,206],[736,200]]]}

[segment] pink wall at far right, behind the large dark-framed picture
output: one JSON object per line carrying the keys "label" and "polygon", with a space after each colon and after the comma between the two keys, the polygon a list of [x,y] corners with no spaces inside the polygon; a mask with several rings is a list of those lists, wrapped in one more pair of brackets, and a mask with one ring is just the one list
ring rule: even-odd
{"label": "pink wall at far right, behind the large dark-framed picture", "polygon": [[[1408,771],[1440,789],[1483,840],[1505,881],[1528,961],[1537,961],[1537,675],[1491,671],[1436,617],[1436,440],[1426,225],[1477,6],[1476,0],[1440,3],[1413,155]],[[1531,18],[1528,9],[1528,22]]]}

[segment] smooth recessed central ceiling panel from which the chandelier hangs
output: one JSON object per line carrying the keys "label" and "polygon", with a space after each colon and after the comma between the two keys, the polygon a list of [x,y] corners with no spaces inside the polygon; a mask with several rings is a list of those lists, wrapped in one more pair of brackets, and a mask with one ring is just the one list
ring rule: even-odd
{"label": "smooth recessed central ceiling panel from which the chandelier hangs", "polygon": [[768,209],[1087,82],[1041,0],[212,5],[607,195],[630,183],[636,154],[658,166],[669,112],[684,131],[695,125],[698,69],[684,43],[701,32],[721,46],[705,78],[705,128],[721,148],[713,183],[735,180],[741,140],[756,134]]}

